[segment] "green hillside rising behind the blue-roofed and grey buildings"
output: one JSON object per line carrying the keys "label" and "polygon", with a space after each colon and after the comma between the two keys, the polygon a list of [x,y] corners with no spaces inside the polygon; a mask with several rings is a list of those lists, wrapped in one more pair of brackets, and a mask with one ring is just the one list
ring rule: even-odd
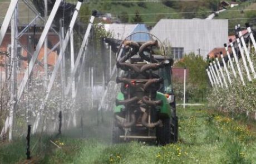
{"label": "green hillside rising behind the blue-roofed and grey buildings", "polygon": [[[67,1],[75,3],[75,1]],[[139,15],[140,21],[154,26],[161,18],[206,18],[210,13],[216,11],[218,1],[101,1],[83,3],[83,8],[91,11],[96,9],[101,13],[111,13],[112,17],[120,18],[122,22],[136,23],[134,17]],[[90,13],[90,12],[86,12]],[[81,17],[88,17],[83,14]]]}

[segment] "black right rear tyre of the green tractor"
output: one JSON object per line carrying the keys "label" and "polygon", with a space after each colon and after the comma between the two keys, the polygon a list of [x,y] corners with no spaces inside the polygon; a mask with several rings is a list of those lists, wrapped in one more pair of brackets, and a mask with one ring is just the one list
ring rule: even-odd
{"label": "black right rear tyre of the green tractor", "polygon": [[163,118],[163,127],[156,127],[157,145],[166,145],[171,141],[170,118]]}

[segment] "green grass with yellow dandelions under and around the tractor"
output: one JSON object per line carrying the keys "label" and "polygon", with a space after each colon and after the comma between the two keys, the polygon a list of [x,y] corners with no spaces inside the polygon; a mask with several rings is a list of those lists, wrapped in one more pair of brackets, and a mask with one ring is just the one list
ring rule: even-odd
{"label": "green grass with yellow dandelions under and around the tractor", "polygon": [[[38,163],[256,163],[255,122],[205,107],[178,108],[179,143],[164,147],[130,142],[111,145],[111,121],[42,137],[32,150]],[[110,115],[108,115],[110,116]],[[87,116],[88,117],[88,116]],[[89,118],[89,117],[88,117]],[[90,117],[93,120],[93,117]],[[95,119],[94,119],[95,120]],[[245,125],[247,124],[247,126]],[[38,138],[33,136],[32,138]],[[57,146],[53,145],[55,142]],[[32,141],[34,145],[36,140]],[[0,146],[0,163],[26,163],[25,140]]]}

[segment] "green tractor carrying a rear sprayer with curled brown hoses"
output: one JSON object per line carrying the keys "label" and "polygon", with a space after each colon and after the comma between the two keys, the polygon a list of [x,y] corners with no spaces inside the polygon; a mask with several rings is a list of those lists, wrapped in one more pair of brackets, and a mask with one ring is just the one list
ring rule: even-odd
{"label": "green tractor carrying a rear sprayer with curled brown hoses", "polygon": [[166,145],[178,141],[173,59],[159,43],[157,39],[122,41],[116,61],[116,82],[121,86],[114,108],[112,143],[137,140]]}

